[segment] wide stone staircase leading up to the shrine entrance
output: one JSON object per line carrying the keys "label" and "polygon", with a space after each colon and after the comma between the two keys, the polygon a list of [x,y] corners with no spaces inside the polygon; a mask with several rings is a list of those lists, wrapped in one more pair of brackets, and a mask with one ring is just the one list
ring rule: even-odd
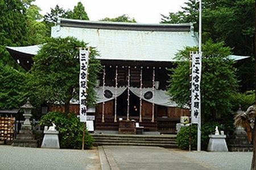
{"label": "wide stone staircase leading up to the shrine entrance", "polygon": [[92,134],[94,146],[131,145],[176,148],[176,135]]}

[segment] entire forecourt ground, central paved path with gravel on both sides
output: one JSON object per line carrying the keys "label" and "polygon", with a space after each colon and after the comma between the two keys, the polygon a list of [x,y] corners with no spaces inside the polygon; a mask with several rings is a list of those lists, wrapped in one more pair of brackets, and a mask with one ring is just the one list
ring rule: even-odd
{"label": "entire forecourt ground, central paved path with gravel on both sides", "polygon": [[0,169],[250,169],[252,152],[188,152],[160,147],[100,146],[56,150],[0,145]]}

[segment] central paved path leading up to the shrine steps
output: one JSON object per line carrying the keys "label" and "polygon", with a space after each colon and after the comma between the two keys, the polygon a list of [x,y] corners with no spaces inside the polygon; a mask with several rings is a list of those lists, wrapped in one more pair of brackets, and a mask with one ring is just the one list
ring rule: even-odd
{"label": "central paved path leading up to the shrine steps", "polygon": [[103,146],[103,149],[112,169],[217,169],[166,148]]}

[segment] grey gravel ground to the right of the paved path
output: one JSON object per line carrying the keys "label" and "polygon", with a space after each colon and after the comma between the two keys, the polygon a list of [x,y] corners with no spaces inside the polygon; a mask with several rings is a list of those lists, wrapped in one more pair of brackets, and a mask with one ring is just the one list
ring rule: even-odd
{"label": "grey gravel ground to the right of the paved path", "polygon": [[188,152],[180,150],[174,152],[194,162],[225,170],[249,170],[253,156],[253,152]]}

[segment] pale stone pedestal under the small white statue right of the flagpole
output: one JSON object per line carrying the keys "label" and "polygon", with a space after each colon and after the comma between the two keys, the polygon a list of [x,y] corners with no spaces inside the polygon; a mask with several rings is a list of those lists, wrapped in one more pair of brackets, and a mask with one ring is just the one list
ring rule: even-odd
{"label": "pale stone pedestal under the small white statue right of the flagpole", "polygon": [[210,152],[228,152],[226,145],[226,135],[209,135],[209,143],[207,150]]}

